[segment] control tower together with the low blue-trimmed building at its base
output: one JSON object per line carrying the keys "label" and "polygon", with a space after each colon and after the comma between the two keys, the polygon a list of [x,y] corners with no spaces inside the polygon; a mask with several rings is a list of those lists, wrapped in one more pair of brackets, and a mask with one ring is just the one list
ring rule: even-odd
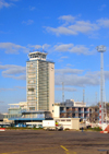
{"label": "control tower together with the low blue-trimmed building at its base", "polygon": [[31,51],[26,61],[26,103],[12,104],[8,119],[16,125],[52,119],[55,106],[55,62],[47,52]]}

